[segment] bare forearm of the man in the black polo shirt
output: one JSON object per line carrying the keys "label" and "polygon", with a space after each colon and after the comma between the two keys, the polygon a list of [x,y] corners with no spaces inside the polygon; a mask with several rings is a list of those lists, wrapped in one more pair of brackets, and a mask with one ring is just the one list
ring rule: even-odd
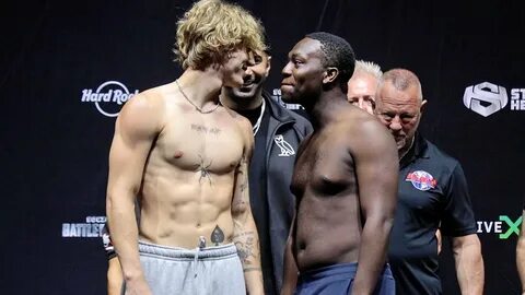
{"label": "bare forearm of the man in the black polo shirt", "polygon": [[452,244],[462,294],[483,294],[483,258],[478,236],[471,234],[454,237]]}

